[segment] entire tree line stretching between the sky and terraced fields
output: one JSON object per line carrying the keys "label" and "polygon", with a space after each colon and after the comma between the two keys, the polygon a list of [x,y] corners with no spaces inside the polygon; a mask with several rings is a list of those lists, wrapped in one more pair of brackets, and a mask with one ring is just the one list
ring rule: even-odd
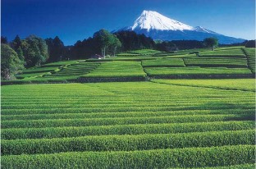
{"label": "entire tree line stretching between the sky and terraced fields", "polygon": [[[254,43],[255,41],[252,45],[247,44],[254,46]],[[42,39],[30,35],[21,39],[17,35],[11,42],[1,36],[1,77],[2,80],[11,80],[23,68],[40,66],[45,62],[88,59],[95,55],[115,57],[116,53],[144,48],[170,52],[204,48],[206,44],[208,43],[205,41],[196,40],[154,41],[144,34],[136,34],[134,31],[120,31],[111,34],[107,30],[98,30],[93,37],[83,41],[78,40],[72,46],[65,46],[57,36],[54,39]]]}

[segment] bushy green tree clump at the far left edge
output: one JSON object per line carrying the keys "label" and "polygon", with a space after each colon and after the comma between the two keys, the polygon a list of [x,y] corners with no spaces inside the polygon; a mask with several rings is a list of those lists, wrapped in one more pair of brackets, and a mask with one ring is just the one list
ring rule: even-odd
{"label": "bushy green tree clump at the far left edge", "polygon": [[48,61],[48,45],[37,36],[20,39],[17,35],[10,43],[1,37],[1,79],[11,80],[24,67],[40,66]]}

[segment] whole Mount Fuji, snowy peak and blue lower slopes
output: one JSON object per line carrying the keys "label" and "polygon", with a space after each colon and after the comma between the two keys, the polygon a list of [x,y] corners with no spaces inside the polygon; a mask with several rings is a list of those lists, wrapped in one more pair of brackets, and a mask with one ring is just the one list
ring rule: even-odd
{"label": "whole Mount Fuji, snowy peak and blue lower slopes", "polygon": [[[242,43],[245,39],[236,39],[233,37],[218,34],[202,26],[190,26],[175,21],[167,16],[162,16],[157,11],[143,11],[137,18],[134,25],[124,27],[121,30],[133,30],[137,34],[145,34],[154,40],[203,40],[209,37],[215,37],[219,43]],[[117,30],[114,32],[118,32]]]}

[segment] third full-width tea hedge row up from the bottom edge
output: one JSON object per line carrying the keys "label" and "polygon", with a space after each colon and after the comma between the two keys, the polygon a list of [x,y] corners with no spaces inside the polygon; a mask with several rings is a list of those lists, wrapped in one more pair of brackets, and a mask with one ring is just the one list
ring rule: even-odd
{"label": "third full-width tea hedge row up from the bottom edge", "polygon": [[86,135],[141,135],[205,132],[214,130],[252,130],[254,121],[215,121],[174,124],[144,124],[115,126],[80,126],[2,129],[2,139],[43,139]]}

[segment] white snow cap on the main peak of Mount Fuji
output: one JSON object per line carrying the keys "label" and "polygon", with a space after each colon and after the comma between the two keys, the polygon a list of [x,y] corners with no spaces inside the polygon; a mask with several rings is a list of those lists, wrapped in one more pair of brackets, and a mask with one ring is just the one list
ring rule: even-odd
{"label": "white snow cap on the main peak of Mount Fuji", "polygon": [[193,30],[190,25],[162,16],[157,11],[143,11],[131,30]]}

